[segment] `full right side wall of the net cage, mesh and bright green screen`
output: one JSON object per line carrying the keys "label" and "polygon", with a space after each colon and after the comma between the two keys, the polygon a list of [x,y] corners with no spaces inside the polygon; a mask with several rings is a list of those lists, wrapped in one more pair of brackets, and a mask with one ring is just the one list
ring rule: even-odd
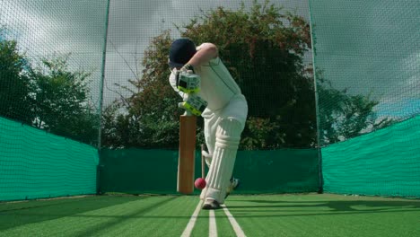
{"label": "full right side wall of the net cage, mesh and bright green screen", "polygon": [[325,189],[419,197],[420,2],[310,9]]}

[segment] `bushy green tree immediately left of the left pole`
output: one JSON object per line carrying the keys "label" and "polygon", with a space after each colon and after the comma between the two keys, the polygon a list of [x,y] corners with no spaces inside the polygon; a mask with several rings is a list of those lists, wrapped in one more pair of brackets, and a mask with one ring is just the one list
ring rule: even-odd
{"label": "bushy green tree immediately left of the left pole", "polygon": [[96,145],[99,116],[89,100],[91,73],[70,71],[68,57],[44,58],[31,69],[33,126]]}

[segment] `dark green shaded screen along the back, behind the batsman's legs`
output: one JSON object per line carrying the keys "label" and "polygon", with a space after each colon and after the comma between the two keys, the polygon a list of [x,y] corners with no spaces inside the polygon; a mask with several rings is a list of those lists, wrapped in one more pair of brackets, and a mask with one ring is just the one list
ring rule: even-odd
{"label": "dark green shaded screen along the back, behind the batsman's legs", "polygon": [[[315,149],[240,151],[233,175],[241,179],[235,193],[318,191]],[[101,151],[101,192],[176,193],[178,151],[121,149]],[[196,154],[196,178],[201,159]],[[197,190],[196,190],[197,192]]]}

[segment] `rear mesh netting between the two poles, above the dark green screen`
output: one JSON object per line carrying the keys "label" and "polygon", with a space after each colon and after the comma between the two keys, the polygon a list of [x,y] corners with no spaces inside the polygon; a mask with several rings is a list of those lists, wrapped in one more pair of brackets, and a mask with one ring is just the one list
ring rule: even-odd
{"label": "rear mesh netting between the two poles, above the dark green screen", "polygon": [[[220,48],[223,63],[247,97],[249,123],[242,137],[249,138],[241,148],[313,148],[308,4],[265,2],[111,1],[102,145],[178,147],[183,111],[168,83],[167,61],[171,41],[188,37],[197,45],[213,42]],[[203,141],[202,129],[198,135]]]}

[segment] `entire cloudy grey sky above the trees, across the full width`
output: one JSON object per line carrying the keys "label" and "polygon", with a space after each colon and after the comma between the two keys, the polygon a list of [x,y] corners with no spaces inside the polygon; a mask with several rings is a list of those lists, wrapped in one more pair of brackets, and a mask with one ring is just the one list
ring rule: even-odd
{"label": "entire cloudy grey sky above the trees, across the full width", "polygon": [[[141,76],[139,62],[154,36],[172,29],[175,39],[174,24],[187,23],[200,9],[237,9],[241,2],[110,0],[104,103],[124,93],[116,84],[128,85],[136,70]],[[310,19],[307,1],[271,2]],[[99,101],[106,10],[106,0],[0,0],[0,24],[30,57],[72,52],[72,67],[92,70]],[[381,101],[375,108],[381,116],[420,113],[419,1],[317,0],[311,10],[315,62],[336,89],[372,93]]]}

